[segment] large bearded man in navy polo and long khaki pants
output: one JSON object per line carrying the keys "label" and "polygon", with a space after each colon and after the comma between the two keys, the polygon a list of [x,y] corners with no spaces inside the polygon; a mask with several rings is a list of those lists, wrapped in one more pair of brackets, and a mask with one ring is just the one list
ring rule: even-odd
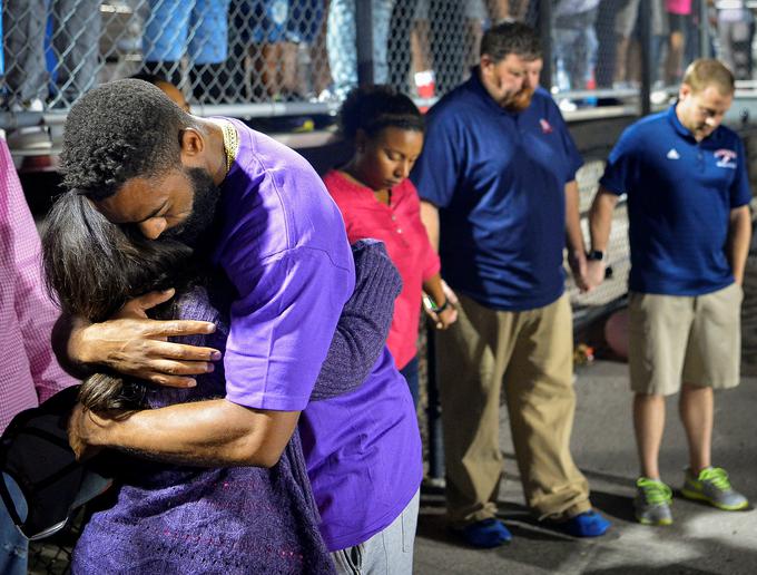
{"label": "large bearded man in navy polo and long khaki pants", "polygon": [[460,295],[459,324],[439,334],[436,348],[446,503],[453,529],[479,547],[511,538],[495,518],[502,390],[528,505],[577,536],[609,526],[591,509],[569,449],[576,396],[562,252],[567,235],[583,285],[582,162],[554,103],[534,94],[528,67],[540,58],[528,26],[486,31],[471,79],[431,110],[411,176],[444,277]]}

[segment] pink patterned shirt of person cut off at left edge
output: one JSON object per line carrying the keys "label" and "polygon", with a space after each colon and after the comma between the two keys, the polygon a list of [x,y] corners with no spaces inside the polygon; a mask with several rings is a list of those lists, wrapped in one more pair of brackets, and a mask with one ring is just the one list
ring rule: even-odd
{"label": "pink patterned shirt of person cut off at left edge", "polygon": [[77,383],[50,347],[60,312],[45,291],[40,253],[35,220],[0,138],[0,431],[19,411]]}

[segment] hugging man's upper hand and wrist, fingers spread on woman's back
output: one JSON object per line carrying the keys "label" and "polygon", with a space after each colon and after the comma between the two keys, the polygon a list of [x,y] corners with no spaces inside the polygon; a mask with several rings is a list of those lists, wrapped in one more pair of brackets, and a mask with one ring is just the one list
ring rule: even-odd
{"label": "hugging man's upper hand and wrist, fingers spread on woman's back", "polygon": [[193,387],[191,376],[213,371],[213,362],[220,359],[220,352],[167,340],[213,333],[215,325],[205,321],[147,318],[146,310],[173,295],[173,290],[142,295],[128,302],[114,319],[101,323],[62,316],[53,331],[59,362],[79,378],[105,367],[160,386]]}

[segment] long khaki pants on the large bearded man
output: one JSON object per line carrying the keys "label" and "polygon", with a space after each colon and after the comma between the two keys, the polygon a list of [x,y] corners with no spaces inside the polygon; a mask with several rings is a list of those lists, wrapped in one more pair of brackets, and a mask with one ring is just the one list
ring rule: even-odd
{"label": "long khaki pants on the large bearded man", "polygon": [[571,517],[591,508],[589,486],[570,455],[572,354],[567,296],[523,312],[495,311],[460,298],[458,322],[439,333],[436,344],[453,525],[497,513],[502,389],[528,505],[540,518]]}

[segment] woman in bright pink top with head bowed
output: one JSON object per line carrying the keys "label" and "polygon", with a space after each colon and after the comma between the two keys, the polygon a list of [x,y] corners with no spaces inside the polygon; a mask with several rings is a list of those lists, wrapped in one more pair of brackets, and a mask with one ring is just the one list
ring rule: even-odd
{"label": "woman in bright pink top with head bowed", "polygon": [[[422,292],[438,329],[458,312],[442,283],[439,256],[421,223],[415,186],[407,178],[423,148],[423,116],[412,100],[387,86],[356,88],[341,111],[343,136],[354,147],[347,164],[324,177],[351,243],[375,237],[386,244],[402,276],[387,344],[417,405],[417,329]],[[445,292],[446,290],[446,292]]]}

